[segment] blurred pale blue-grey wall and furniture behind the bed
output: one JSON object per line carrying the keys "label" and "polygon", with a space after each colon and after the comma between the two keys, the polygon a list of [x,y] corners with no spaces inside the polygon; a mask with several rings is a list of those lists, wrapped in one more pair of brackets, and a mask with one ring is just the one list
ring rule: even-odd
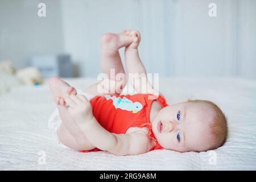
{"label": "blurred pale blue-grey wall and furniture behind the bed", "polygon": [[94,77],[101,35],[136,29],[148,73],[255,80],[255,10],[255,0],[1,0],[0,61],[44,77]]}

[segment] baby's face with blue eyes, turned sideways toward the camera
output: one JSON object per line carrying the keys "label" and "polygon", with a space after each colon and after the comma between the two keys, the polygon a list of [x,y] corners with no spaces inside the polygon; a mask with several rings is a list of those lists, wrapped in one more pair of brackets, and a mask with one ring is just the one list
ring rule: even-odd
{"label": "baby's face with blue eyes, turned sideways toward the camera", "polygon": [[160,110],[152,122],[152,131],[166,149],[206,151],[214,142],[209,127],[213,115],[205,104],[181,102]]}

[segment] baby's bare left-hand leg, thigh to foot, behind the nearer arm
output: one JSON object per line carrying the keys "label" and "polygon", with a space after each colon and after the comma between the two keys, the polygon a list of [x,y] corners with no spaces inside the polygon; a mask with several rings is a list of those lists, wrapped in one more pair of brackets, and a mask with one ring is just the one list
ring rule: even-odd
{"label": "baby's bare left-hand leg, thigh to foot, behind the nearer arm", "polygon": [[63,98],[76,94],[76,89],[57,77],[50,79],[49,86],[61,118],[61,124],[57,131],[60,142],[75,150],[90,150],[94,148],[79,127],[73,124],[75,122],[68,114],[67,107],[64,104]]}

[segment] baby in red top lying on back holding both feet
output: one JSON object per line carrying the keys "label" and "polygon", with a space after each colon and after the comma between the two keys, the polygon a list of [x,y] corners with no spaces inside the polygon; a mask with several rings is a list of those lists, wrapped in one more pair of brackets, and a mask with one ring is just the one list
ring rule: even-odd
{"label": "baby in red top lying on back holding both feet", "polygon": [[[152,87],[139,58],[140,40],[138,31],[104,34],[100,60],[102,72],[109,77],[111,69],[125,75],[118,53],[119,48],[125,47],[127,72],[135,74],[133,79],[140,83],[131,81],[138,94],[119,94],[126,85],[125,78],[104,79],[82,93],[60,78],[51,78],[49,86],[57,111],[49,119],[49,126],[57,139],[75,150],[102,150],[115,155],[137,155],[163,148],[200,152],[224,144],[227,123],[216,104],[187,100],[168,105]],[[112,82],[110,88],[106,81]],[[142,91],[143,86],[146,91]]]}

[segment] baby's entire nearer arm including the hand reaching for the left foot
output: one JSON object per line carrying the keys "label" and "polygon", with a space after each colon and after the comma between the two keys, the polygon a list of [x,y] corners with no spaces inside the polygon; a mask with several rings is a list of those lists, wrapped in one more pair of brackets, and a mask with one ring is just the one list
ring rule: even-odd
{"label": "baby's entire nearer arm including the hand reaching for the left foot", "polygon": [[146,133],[114,134],[105,130],[94,118],[92,107],[84,96],[65,98],[68,112],[93,146],[115,155],[136,155],[150,151],[152,143]]}

